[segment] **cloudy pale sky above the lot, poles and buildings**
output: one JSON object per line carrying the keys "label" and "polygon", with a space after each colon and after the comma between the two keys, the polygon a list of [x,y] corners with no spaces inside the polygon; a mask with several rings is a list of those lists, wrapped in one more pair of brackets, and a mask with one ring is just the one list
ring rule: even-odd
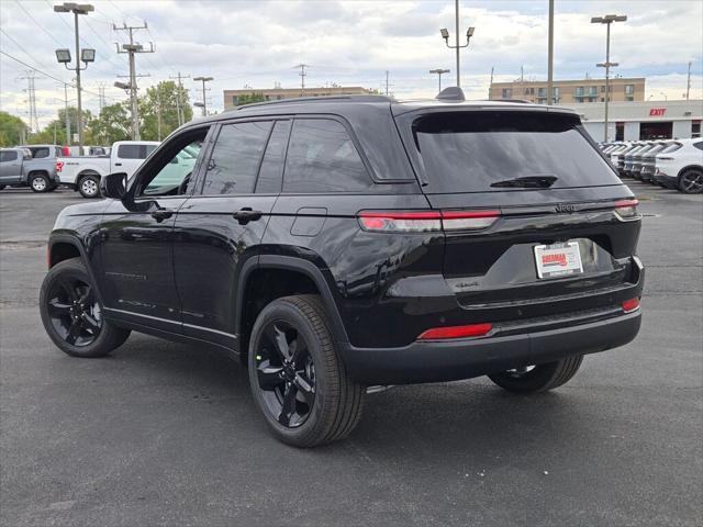
{"label": "cloudy pale sky above the lot, poles and buildings", "polygon": [[[89,0],[76,0],[86,2]],[[56,63],[54,49],[71,48],[72,14],[55,13],[51,0],[0,2],[0,109],[27,119],[27,70],[36,68],[38,121],[45,125],[64,106],[64,88],[74,72]],[[439,35],[455,35],[453,0],[426,1],[183,1],[94,0],[94,11],[80,18],[81,47],[97,52],[81,72],[83,106],[99,108],[100,86],[108,104],[126,99],[114,88],[129,74],[125,54],[115,43],[129,40],[118,26],[140,26],[135,40],[155,53],[136,57],[141,91],[180,71],[191,101],[202,96],[192,77],[214,77],[208,87],[208,106],[223,108],[223,90],[300,86],[306,64],[306,87],[362,86],[399,98],[435,97],[437,78],[429,69],[451,70],[455,55]],[[483,0],[459,2],[459,33],[476,32],[461,49],[461,87],[468,99],[486,99],[493,70],[495,81],[547,77],[548,1]],[[605,61],[605,26],[591,16],[626,14],[611,35],[613,75],[646,77],[645,97],[681,99],[691,61],[691,98],[703,99],[703,1],[701,0],[555,0],[555,78],[602,77],[596,63]],[[10,55],[10,56],[8,56]],[[16,59],[26,63],[22,65]],[[41,70],[42,72],[40,72]],[[47,74],[55,79],[48,78]],[[148,76],[146,76],[148,75]],[[69,104],[76,90],[68,89]]]}

